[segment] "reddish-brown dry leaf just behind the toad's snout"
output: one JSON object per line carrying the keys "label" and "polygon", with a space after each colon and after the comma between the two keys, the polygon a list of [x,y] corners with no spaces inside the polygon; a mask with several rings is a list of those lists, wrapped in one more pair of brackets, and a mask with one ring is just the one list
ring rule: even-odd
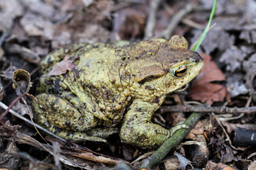
{"label": "reddish-brown dry leaf just behind the toad's snout", "polygon": [[213,83],[213,81],[224,81],[225,75],[218,69],[215,62],[210,61],[210,55],[201,55],[204,58],[204,66],[196,80],[193,81],[189,96],[193,100],[206,102],[210,105],[215,101],[224,101],[224,98],[230,101],[225,86]]}

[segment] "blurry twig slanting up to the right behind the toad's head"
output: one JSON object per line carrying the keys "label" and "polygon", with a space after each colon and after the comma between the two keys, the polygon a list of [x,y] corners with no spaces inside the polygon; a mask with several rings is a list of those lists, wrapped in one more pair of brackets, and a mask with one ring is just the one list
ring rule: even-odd
{"label": "blurry twig slanting up to the right behind the toad's head", "polygon": [[159,34],[157,38],[166,38],[166,40],[169,40],[171,38],[171,34],[178,26],[178,23],[183,19],[186,14],[190,13],[196,8],[196,6],[187,4],[181,11],[178,11],[178,13],[172,18],[171,23],[167,26],[166,30],[163,31],[163,33]]}

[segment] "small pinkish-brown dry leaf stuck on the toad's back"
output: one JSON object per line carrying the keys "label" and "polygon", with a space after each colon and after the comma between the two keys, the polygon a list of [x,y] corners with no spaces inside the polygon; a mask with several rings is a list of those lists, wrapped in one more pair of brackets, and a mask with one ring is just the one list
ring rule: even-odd
{"label": "small pinkish-brown dry leaf stuck on the toad's back", "polygon": [[50,77],[65,74],[67,70],[73,71],[77,67],[77,65],[73,64],[73,60],[70,60],[69,57],[69,55],[66,55],[64,60],[62,60],[61,62],[57,62],[53,66],[53,69],[50,70],[50,72],[48,73],[48,76]]}

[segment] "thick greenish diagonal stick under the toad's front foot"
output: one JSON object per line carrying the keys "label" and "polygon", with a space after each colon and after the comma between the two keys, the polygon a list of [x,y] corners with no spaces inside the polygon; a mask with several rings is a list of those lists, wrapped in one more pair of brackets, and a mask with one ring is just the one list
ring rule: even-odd
{"label": "thick greenish diagonal stick under the toad's front foot", "polygon": [[193,128],[193,126],[198,122],[198,120],[205,115],[206,113],[192,113],[188,119],[183,123],[188,125],[189,129],[180,129],[177,130],[174,135],[172,135],[166,142],[164,142],[159,149],[156,150],[154,154],[151,155],[148,159],[144,159],[140,169],[151,169],[151,166],[161,162],[162,159],[169,153],[171,148],[176,147],[181,140],[188,134],[188,132]]}

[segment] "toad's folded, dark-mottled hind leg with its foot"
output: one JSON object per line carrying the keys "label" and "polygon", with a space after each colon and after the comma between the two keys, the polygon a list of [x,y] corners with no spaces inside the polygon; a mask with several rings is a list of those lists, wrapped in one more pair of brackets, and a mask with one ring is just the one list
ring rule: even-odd
{"label": "toad's folded, dark-mottled hind leg with its foot", "polygon": [[[67,96],[67,94],[65,94]],[[106,140],[101,137],[90,135],[92,128],[98,123],[87,111],[86,106],[73,96],[69,101],[63,96],[53,94],[39,94],[38,101],[33,101],[32,108],[37,123],[45,126],[48,130],[68,140]]]}

